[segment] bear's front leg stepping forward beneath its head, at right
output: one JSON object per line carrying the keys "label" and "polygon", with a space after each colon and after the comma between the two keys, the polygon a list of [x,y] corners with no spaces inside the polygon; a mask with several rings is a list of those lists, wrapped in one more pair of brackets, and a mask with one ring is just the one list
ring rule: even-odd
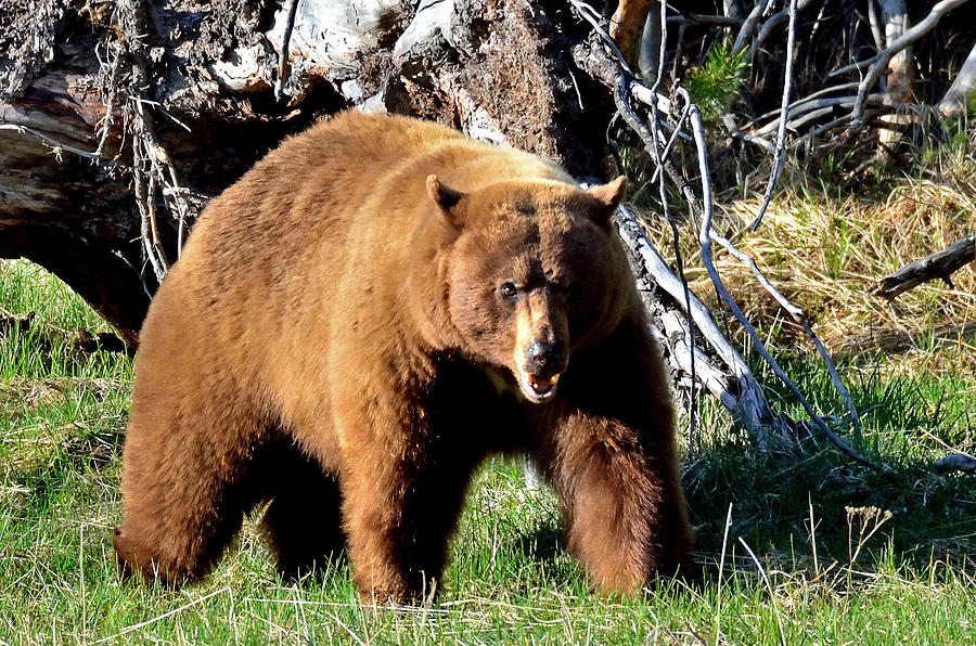
{"label": "bear's front leg stepping forward beneath its head, at right", "polygon": [[561,498],[569,551],[607,591],[693,577],[675,415],[657,348],[633,327],[574,361],[539,449]]}

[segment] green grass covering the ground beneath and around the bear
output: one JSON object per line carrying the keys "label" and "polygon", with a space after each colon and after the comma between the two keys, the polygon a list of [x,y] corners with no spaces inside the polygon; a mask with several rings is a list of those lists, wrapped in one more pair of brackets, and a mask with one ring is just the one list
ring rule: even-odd
{"label": "green grass covering the ground beneath and around the bear", "polygon": [[[973,452],[971,372],[906,373],[883,357],[842,365],[869,411],[860,448],[894,475],[851,464],[805,429],[794,453],[757,455],[705,402],[684,478],[706,569],[698,589],[591,592],[561,545],[552,492],[493,461],[472,487],[437,600],[377,609],[359,603],[344,560],[321,580],[278,580],[251,522],[203,583],[121,581],[112,528],[131,360],[80,351],[77,328],[104,324],[28,263],[0,261],[0,308],[36,312],[26,330],[0,334],[0,643],[973,642],[976,491],[972,476],[927,467],[947,447]],[[801,356],[784,365],[843,416],[822,369]],[[801,418],[763,379],[775,405]]]}

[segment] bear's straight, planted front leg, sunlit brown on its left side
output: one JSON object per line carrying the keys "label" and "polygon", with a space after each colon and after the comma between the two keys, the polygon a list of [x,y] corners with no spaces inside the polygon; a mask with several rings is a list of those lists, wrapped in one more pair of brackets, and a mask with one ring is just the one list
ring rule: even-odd
{"label": "bear's straight, planted front leg, sunlit brown on its left side", "polygon": [[345,408],[343,519],[365,602],[402,604],[431,594],[473,469],[457,432],[435,430],[432,417],[444,416],[419,399],[374,389],[351,413]]}

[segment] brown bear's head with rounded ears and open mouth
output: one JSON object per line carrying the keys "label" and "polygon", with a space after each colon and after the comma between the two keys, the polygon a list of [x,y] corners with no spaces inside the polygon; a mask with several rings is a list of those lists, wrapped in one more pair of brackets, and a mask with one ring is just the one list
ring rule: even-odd
{"label": "brown bear's head with rounded ears and open mouth", "polygon": [[452,232],[441,251],[447,314],[462,350],[551,400],[574,352],[613,332],[632,279],[609,222],[624,178],[586,191],[502,181],[467,193],[427,178]]}

